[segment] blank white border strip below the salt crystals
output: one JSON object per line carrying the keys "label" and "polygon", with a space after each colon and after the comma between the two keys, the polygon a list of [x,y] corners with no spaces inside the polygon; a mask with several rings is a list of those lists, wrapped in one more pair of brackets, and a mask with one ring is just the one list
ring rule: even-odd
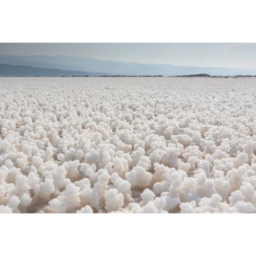
{"label": "blank white border strip below the salt crystals", "polygon": [[1,214],[1,255],[253,255],[255,214]]}

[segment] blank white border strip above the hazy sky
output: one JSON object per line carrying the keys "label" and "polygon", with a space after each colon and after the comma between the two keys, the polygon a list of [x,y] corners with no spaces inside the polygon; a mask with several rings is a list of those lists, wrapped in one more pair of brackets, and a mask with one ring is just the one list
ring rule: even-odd
{"label": "blank white border strip above the hazy sky", "polygon": [[0,42],[256,42],[253,0],[6,0]]}

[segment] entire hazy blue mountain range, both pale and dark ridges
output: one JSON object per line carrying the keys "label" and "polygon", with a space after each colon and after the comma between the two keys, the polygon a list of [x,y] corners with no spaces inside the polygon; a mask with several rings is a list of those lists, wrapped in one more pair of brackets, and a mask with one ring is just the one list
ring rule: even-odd
{"label": "entire hazy blue mountain range, both pale and dark ridges", "polygon": [[0,55],[0,63],[0,76],[182,76],[200,73],[211,76],[256,75],[256,69],[248,68],[142,64],[63,55]]}

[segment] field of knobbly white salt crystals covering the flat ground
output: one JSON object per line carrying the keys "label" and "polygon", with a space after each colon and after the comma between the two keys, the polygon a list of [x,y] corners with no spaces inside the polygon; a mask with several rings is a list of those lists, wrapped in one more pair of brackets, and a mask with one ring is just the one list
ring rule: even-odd
{"label": "field of knobbly white salt crystals covering the flat ground", "polygon": [[256,212],[255,84],[1,78],[0,212]]}

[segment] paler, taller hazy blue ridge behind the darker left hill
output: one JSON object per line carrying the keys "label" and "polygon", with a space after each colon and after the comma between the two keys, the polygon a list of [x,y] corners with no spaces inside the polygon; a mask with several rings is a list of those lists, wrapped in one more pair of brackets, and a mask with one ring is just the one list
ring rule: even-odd
{"label": "paler, taller hazy blue ridge behind the darker left hill", "polygon": [[183,76],[190,74],[209,74],[210,76],[256,75],[256,69],[248,68],[193,67],[176,66],[169,64],[142,64],[138,62],[98,60],[95,58],[63,55],[0,55],[0,63],[32,66],[36,68],[74,70],[88,73],[106,73],[107,75],[120,76]]}

